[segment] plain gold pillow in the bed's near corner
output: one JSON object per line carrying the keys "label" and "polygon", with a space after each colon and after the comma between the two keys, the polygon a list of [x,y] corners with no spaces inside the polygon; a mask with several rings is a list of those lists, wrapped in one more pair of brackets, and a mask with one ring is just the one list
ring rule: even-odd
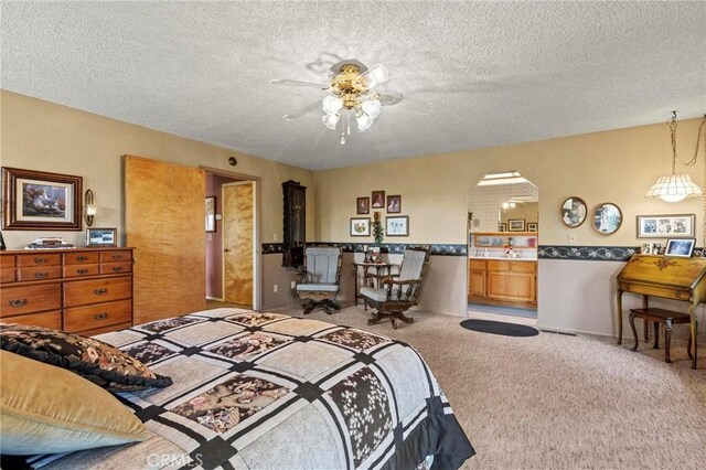
{"label": "plain gold pillow in the bed's near corner", "polygon": [[129,408],[64,368],[0,351],[0,453],[69,452],[146,440]]}

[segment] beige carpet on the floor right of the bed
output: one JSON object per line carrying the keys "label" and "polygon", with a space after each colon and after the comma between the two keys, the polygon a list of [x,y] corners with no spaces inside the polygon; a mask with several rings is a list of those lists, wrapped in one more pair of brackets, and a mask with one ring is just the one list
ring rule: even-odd
{"label": "beige carpet on the floor right of the bed", "polygon": [[[300,310],[278,309],[301,316]],[[393,330],[350,307],[308,316],[408,342],[447,394],[477,456],[469,469],[706,468],[706,351],[591,335],[477,333],[457,317],[415,313]]]}

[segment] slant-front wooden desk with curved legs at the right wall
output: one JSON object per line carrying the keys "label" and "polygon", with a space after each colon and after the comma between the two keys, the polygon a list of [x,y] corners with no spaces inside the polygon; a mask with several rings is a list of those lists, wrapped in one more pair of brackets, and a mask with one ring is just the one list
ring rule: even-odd
{"label": "slant-front wooden desk with curved legs at the right wall", "polygon": [[[692,368],[696,368],[696,308],[706,302],[706,259],[656,255],[633,255],[618,275],[618,344],[622,342],[622,295],[642,295],[642,313],[670,312],[650,309],[649,298],[688,302],[692,335]],[[634,311],[634,309],[633,309]],[[680,314],[678,312],[673,312]],[[646,339],[646,323],[645,323]]]}

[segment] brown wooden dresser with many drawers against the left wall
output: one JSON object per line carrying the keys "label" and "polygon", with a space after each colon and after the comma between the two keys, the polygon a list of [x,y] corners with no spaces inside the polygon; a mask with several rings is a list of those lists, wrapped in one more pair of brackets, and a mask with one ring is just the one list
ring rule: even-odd
{"label": "brown wooden dresser with many drawers against the left wall", "polygon": [[0,321],[84,335],[132,325],[132,248],[0,252]]}

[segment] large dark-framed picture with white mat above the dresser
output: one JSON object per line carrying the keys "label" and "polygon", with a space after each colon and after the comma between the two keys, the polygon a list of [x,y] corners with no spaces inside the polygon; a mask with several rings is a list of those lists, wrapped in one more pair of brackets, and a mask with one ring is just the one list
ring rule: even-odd
{"label": "large dark-framed picture with white mat above the dresser", "polygon": [[2,168],[2,228],[79,231],[83,178]]}

